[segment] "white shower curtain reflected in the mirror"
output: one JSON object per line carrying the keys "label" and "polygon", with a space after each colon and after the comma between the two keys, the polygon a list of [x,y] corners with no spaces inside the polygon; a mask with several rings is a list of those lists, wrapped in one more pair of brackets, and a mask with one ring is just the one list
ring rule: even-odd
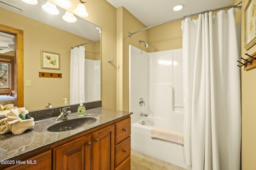
{"label": "white shower curtain reflected in the mirror", "polygon": [[84,97],[84,46],[71,49],[70,104],[85,101]]}

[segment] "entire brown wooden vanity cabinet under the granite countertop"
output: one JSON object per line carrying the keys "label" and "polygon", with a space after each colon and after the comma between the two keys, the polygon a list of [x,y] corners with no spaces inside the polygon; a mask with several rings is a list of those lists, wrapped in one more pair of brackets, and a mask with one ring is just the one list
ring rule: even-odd
{"label": "entire brown wooden vanity cabinet under the granite countertop", "polygon": [[[130,134],[131,118],[128,117],[28,154],[19,158],[26,164],[7,169],[130,170]],[[32,164],[34,161],[36,164]]]}

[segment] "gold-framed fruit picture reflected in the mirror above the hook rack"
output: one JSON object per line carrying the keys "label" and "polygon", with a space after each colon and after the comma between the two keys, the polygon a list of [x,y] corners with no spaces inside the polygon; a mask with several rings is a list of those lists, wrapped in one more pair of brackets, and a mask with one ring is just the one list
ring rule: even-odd
{"label": "gold-framed fruit picture reflected in the mirror above the hook rack", "polygon": [[60,70],[60,54],[41,50],[41,68]]}

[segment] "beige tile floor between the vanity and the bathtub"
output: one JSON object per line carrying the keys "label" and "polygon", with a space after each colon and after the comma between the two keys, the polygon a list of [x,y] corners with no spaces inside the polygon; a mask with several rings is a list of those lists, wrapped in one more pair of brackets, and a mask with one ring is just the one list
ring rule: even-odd
{"label": "beige tile floor between the vanity and the bathtub", "polygon": [[131,170],[186,170],[180,166],[131,150]]}

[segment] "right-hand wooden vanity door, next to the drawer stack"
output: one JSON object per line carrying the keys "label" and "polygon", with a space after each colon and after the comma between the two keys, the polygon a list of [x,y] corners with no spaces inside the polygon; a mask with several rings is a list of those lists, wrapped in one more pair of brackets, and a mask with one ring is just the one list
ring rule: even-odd
{"label": "right-hand wooden vanity door, next to the drawer stack", "polygon": [[92,133],[92,170],[114,170],[114,125]]}

